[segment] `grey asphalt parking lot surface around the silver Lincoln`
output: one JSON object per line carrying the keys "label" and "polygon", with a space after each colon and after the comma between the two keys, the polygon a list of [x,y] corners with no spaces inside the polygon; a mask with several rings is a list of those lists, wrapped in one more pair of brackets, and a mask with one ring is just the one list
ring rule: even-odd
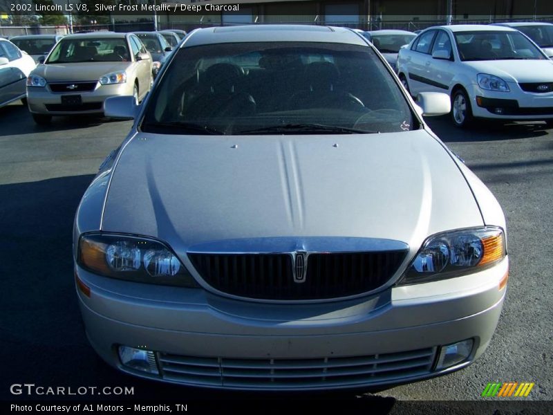
{"label": "grey asphalt parking lot surface around the silver Lincoln", "polygon": [[[494,338],[474,365],[377,396],[477,400],[488,382],[512,381],[535,382],[529,398],[551,400],[553,130],[543,123],[460,130],[444,117],[429,121],[505,211],[511,264],[507,299]],[[134,398],[161,400],[228,397],[120,374],[96,356],[84,335],[73,282],[73,216],[97,167],[131,122],[73,117],[38,127],[17,102],[0,109],[0,125],[0,273],[5,282],[0,396],[17,398],[10,394],[12,383],[35,383],[126,385],[134,387]]]}

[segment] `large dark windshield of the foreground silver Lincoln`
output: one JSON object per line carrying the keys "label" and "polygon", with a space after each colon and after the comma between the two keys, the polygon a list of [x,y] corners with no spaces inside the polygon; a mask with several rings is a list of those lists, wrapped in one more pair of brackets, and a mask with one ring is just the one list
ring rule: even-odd
{"label": "large dark windshield of the foreground silver Lincoln", "polygon": [[142,131],[377,133],[413,129],[399,86],[371,48],[256,42],[178,50]]}

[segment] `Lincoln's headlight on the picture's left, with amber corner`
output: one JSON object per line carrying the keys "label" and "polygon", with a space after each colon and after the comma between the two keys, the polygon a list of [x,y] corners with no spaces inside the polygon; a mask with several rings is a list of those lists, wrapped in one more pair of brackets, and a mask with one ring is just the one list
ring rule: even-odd
{"label": "Lincoln's headlight on the picture's left, with amber corner", "polygon": [[77,264],[104,277],[199,288],[174,253],[153,239],[85,234],[79,239]]}

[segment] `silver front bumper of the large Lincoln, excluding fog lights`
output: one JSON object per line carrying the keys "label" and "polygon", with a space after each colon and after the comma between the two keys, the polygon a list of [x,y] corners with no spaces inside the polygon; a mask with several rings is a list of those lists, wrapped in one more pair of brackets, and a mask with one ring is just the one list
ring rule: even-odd
{"label": "silver front bumper of the large Lincoln, excluding fog lights", "polygon": [[[455,279],[319,304],[265,304],[203,289],[144,286],[77,268],[86,333],[128,373],[183,385],[299,390],[390,385],[460,369],[486,349],[507,258]],[[473,339],[467,360],[436,371],[440,346]],[[118,346],[155,352],[159,375],[123,367]]]}

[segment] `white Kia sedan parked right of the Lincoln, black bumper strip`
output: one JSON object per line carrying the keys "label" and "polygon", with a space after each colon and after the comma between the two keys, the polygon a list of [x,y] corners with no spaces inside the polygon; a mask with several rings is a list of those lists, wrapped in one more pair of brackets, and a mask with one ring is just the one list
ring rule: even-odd
{"label": "white Kia sedan parked right of the Lincoln, black bumper strip", "polygon": [[449,93],[457,127],[475,118],[553,124],[553,62],[514,28],[428,28],[400,49],[397,65],[411,95]]}

